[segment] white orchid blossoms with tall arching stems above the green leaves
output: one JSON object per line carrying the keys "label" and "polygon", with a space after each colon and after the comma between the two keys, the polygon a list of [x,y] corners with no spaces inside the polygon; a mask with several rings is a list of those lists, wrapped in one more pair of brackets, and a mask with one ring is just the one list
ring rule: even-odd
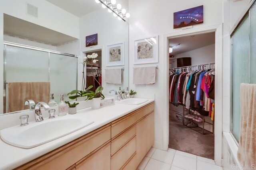
{"label": "white orchid blossoms with tall arching stems above the green leaves", "polygon": [[[91,69],[92,69],[93,63],[96,63],[98,61],[98,60],[96,60],[97,57],[98,57],[97,53],[92,53],[92,55],[84,56],[84,61],[82,64],[84,65],[84,67],[86,66],[86,64],[90,64]],[[83,67],[82,90],[85,89],[84,67]],[[96,81],[100,85],[100,82],[98,82],[98,80],[96,80],[96,78],[95,78],[94,72],[91,72],[91,73],[94,78],[93,80]]]}

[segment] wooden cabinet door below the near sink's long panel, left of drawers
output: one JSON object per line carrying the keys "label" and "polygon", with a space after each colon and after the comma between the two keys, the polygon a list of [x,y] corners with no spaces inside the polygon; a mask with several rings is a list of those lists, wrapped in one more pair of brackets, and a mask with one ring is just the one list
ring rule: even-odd
{"label": "wooden cabinet door below the near sink's long panel, left of drawers", "polygon": [[110,170],[110,142],[76,163],[76,170]]}

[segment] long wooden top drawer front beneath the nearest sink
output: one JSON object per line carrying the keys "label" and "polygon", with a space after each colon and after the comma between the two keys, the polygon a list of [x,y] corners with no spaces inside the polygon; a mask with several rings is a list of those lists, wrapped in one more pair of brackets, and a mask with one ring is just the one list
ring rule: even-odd
{"label": "long wooden top drawer front beneath the nearest sink", "polygon": [[111,139],[110,125],[96,129],[58,149],[53,150],[23,166],[19,170],[64,170],[90,154]]}

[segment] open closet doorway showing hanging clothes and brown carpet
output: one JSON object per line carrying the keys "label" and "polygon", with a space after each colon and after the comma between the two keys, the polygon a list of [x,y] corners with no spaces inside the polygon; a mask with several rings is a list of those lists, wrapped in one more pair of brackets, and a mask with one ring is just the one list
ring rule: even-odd
{"label": "open closet doorway showing hanging clothes and brown carpet", "polygon": [[168,45],[169,148],[214,160],[215,32]]}

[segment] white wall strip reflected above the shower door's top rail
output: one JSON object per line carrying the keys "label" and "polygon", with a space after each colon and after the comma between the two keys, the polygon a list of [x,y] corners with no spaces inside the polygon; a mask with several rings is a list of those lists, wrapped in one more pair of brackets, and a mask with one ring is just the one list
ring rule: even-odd
{"label": "white wall strip reflected above the shower door's top rail", "polygon": [[18,43],[18,44],[22,44],[22,45],[28,45],[28,46],[32,46],[32,47],[38,47],[38,48],[42,48],[42,49],[57,51],[57,48],[54,45],[39,43],[39,42],[36,42],[36,41],[31,41],[31,40],[24,39],[24,38],[19,38],[19,37],[13,37],[13,36],[6,35],[6,34],[4,34],[4,41],[8,41],[8,42],[12,42],[12,43]]}

